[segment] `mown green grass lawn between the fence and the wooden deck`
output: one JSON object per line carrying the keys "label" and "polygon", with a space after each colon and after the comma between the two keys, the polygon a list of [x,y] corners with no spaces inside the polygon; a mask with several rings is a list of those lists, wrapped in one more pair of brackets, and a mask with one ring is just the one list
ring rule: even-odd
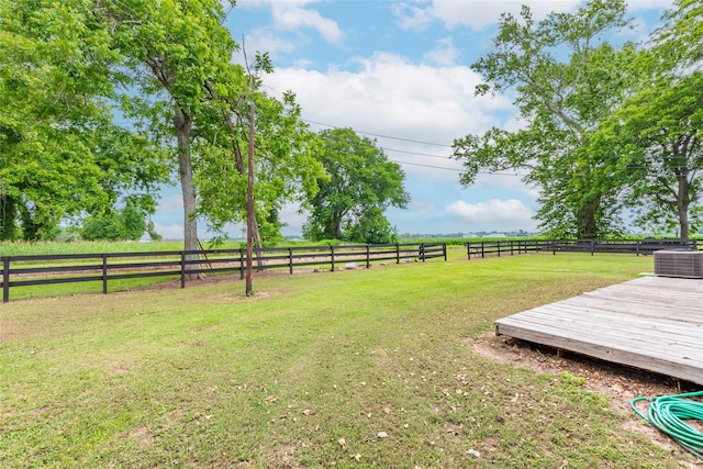
{"label": "mown green grass lawn between the fence and the wooden deck", "polygon": [[651,270],[457,250],[255,277],[253,298],[232,281],[2,304],[0,467],[678,467],[580,380],[467,344]]}

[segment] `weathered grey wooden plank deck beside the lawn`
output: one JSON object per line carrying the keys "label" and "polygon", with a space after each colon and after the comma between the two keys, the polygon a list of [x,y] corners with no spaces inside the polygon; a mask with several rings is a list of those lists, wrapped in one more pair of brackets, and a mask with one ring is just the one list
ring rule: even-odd
{"label": "weathered grey wooden plank deck beside the lawn", "polygon": [[495,333],[703,384],[703,280],[641,277],[504,317]]}

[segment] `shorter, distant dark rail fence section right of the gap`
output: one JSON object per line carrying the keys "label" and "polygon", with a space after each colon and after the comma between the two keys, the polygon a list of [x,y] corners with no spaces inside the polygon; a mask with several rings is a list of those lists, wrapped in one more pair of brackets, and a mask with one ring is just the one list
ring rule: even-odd
{"label": "shorter, distant dark rail fence section right of the gap", "polygon": [[547,252],[650,255],[660,249],[699,249],[696,239],[518,239],[464,243],[467,256],[486,257]]}

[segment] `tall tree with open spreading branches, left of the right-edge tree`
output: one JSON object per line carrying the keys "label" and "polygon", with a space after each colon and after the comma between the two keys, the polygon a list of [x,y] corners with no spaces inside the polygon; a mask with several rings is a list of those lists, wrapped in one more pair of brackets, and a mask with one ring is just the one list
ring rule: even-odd
{"label": "tall tree with open spreading branches, left of the right-edge tree", "polygon": [[576,13],[551,13],[536,23],[528,7],[521,18],[503,14],[493,51],[471,67],[486,83],[477,94],[515,91],[525,129],[492,129],[457,138],[454,156],[465,160],[464,185],[482,169],[527,169],[524,181],[540,190],[542,227],[556,236],[598,237],[618,230],[618,188],[604,179],[604,155],[588,153],[598,124],[621,101],[635,57],[603,35],[625,25],[625,3],[591,0]]}

